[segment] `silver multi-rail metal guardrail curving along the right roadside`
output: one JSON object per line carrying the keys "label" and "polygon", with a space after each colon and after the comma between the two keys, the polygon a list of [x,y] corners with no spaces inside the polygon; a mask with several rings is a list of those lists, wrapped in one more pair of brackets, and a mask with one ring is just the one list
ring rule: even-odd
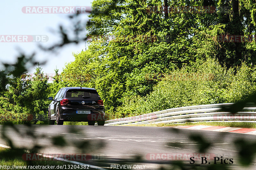
{"label": "silver multi-rail metal guardrail curving along the right roadside", "polygon": [[223,107],[229,107],[233,103],[221,103],[210,105],[198,105],[188,107],[171,108],[144,115],[113,119],[105,122],[105,125],[119,124],[149,124],[149,123],[180,123],[194,121],[254,121],[256,120],[256,107],[251,103],[236,114],[222,112]]}

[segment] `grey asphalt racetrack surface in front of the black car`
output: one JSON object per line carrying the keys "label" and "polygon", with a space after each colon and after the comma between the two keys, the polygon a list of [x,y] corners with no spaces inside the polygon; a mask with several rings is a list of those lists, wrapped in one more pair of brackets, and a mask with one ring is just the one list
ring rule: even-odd
{"label": "grey asphalt racetrack surface in front of the black car", "polygon": [[[237,139],[256,141],[255,135],[171,127],[14,125],[3,128],[1,125],[1,134],[10,138],[14,146],[27,150],[41,146],[40,152],[44,154],[90,154],[92,160],[82,162],[98,162],[101,167],[110,167],[114,163],[121,165],[120,161],[126,161],[132,165],[146,165],[144,169],[155,169],[182,160],[190,168],[202,168],[210,166],[209,162],[212,165],[214,157],[219,157],[216,166],[224,166],[226,159],[231,169],[240,169],[238,148],[233,142]],[[203,145],[195,141],[200,138],[198,135],[202,136]],[[3,136],[0,144],[8,145]],[[210,144],[209,148],[200,152],[198,148],[207,144]],[[190,157],[198,158],[198,161],[190,164]],[[207,158],[207,164],[201,164],[201,157]],[[251,169],[256,167],[256,161],[253,164]]]}

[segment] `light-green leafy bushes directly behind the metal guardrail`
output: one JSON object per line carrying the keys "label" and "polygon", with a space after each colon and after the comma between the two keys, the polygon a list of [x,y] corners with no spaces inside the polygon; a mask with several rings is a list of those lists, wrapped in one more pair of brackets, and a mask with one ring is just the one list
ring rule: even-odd
{"label": "light-green leafy bushes directly behind the metal guardrail", "polygon": [[125,97],[116,118],[141,115],[174,107],[229,103],[256,92],[255,67],[242,64],[227,69],[209,59],[196,71],[174,70],[146,97]]}

